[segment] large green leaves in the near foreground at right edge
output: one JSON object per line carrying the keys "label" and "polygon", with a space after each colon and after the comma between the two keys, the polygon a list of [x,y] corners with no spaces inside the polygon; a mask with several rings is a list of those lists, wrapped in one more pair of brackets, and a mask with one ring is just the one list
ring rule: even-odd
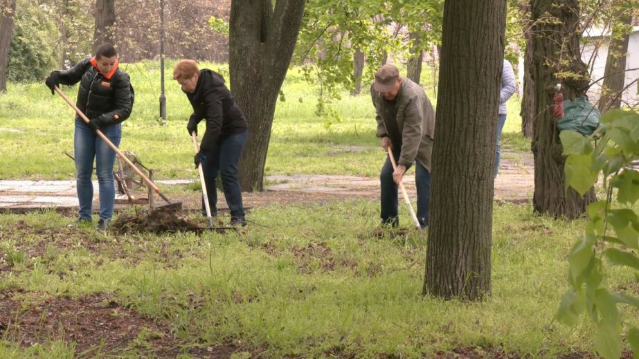
{"label": "large green leaves in the near foreground at right edge", "polygon": [[[604,358],[620,358],[623,317],[620,304],[639,309],[639,298],[615,288],[606,280],[609,266],[624,266],[639,275],[639,114],[611,110],[602,127],[588,138],[562,131],[566,161],[566,187],[584,194],[603,177],[606,199],[588,205],[584,236],[570,250],[570,290],[561,301],[557,317],[573,325],[581,315],[597,325],[595,349]],[[593,146],[593,140],[602,136]],[[639,329],[627,328],[627,342],[639,356]]]}

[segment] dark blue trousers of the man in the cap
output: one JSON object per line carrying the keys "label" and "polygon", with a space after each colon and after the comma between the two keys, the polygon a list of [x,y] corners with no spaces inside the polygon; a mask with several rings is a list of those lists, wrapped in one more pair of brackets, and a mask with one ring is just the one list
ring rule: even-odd
{"label": "dark blue trousers of the man in the cap", "polygon": [[[399,160],[399,151],[393,153],[395,161]],[[408,170],[408,168],[406,169]],[[393,164],[390,157],[386,156],[386,163],[381,167],[379,174],[381,183],[381,223],[388,225],[399,225],[397,215],[397,183],[393,181]],[[429,225],[429,201],[431,199],[431,174],[422,166],[419,161],[415,161],[415,187],[417,187],[417,220],[422,228]]]}

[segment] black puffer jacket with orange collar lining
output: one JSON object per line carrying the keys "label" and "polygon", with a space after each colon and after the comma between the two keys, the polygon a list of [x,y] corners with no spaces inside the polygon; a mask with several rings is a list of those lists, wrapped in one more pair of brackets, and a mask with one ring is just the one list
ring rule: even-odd
{"label": "black puffer jacket with orange collar lining", "polygon": [[60,73],[61,84],[80,82],[78,106],[87,118],[100,117],[102,125],[114,125],[129,118],[133,108],[133,87],[129,75],[119,68],[102,75],[91,63],[91,57],[80,60],[72,68]]}

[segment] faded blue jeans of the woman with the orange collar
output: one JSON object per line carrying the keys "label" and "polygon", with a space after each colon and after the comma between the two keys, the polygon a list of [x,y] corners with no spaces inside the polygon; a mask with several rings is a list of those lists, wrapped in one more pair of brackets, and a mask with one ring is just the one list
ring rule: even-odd
{"label": "faded blue jeans of the woman with the orange collar", "polygon": [[[120,145],[122,125],[111,125],[100,129],[114,145]],[[116,188],[113,180],[113,166],[116,152],[96,133],[75,118],[75,135],[73,136],[75,151],[75,178],[80,202],[80,218],[91,221],[93,210],[93,158],[96,159],[96,174],[100,190],[100,219],[113,217],[113,206],[116,199]]]}

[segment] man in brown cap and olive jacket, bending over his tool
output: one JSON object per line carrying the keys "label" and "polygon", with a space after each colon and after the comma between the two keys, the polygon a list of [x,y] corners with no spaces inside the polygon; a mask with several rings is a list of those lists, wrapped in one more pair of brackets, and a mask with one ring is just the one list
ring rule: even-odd
{"label": "man in brown cap and olive jacket, bending over his tool", "polygon": [[377,113],[377,136],[381,147],[393,149],[397,169],[390,158],[381,168],[381,223],[397,226],[397,185],[406,169],[415,163],[417,219],[422,228],[429,225],[431,192],[431,153],[435,134],[435,110],[424,89],[406,77],[399,77],[397,67],[386,64],[375,73],[370,86]]}

